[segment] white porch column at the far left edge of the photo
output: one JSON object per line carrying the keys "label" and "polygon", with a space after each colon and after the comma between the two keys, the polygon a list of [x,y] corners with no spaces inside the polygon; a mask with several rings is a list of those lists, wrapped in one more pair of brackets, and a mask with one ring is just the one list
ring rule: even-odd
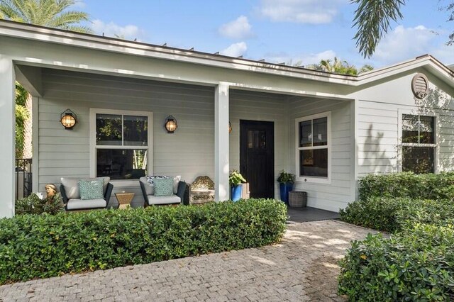
{"label": "white porch column at the far left edge of the photo", "polygon": [[0,218],[14,216],[15,82],[13,61],[0,55]]}

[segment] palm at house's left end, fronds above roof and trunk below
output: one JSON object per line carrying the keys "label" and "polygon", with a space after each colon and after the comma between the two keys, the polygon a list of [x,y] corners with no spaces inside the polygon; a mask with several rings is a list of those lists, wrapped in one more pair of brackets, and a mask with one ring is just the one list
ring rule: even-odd
{"label": "palm at house's left end, fronds above roof and trunk below", "polygon": [[[91,33],[79,23],[89,21],[87,13],[70,11],[76,0],[0,0],[0,18],[38,26]],[[16,84],[16,157],[32,157],[32,98]]]}

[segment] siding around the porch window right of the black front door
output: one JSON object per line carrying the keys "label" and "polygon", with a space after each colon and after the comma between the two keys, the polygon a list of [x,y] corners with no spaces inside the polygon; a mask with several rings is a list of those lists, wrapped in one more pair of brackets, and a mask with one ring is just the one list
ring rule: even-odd
{"label": "siding around the porch window right of the black front door", "polygon": [[355,181],[353,164],[355,163],[352,150],[352,133],[350,101],[331,99],[300,99],[289,98],[289,167],[296,170],[295,163],[295,119],[316,113],[331,111],[331,184],[314,184],[297,182],[295,189],[306,191],[308,205],[323,208],[328,211],[339,211],[339,208],[355,198]]}

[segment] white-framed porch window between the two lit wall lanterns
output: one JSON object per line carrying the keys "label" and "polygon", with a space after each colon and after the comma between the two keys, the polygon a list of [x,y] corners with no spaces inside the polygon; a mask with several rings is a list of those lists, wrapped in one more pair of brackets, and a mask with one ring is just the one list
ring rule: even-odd
{"label": "white-framed porch window between the two lit wall lanterns", "polygon": [[92,176],[138,179],[148,173],[152,113],[90,110]]}

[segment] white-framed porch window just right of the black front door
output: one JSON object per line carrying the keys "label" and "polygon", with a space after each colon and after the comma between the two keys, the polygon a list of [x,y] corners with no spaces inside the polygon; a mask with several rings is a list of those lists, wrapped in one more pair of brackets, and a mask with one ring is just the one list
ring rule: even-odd
{"label": "white-framed porch window just right of the black front door", "polygon": [[331,112],[296,120],[297,180],[329,182],[331,167]]}

